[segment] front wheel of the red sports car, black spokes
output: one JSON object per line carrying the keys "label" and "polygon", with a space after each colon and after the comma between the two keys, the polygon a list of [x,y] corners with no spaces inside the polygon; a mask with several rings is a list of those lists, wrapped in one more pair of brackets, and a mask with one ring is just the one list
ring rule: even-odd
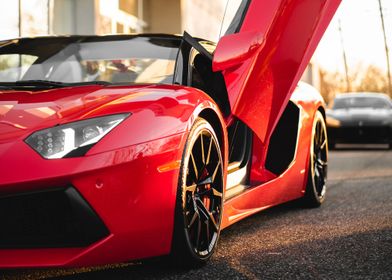
{"label": "front wheel of the red sports car, black spokes", "polygon": [[223,209],[223,160],[214,129],[198,118],[185,145],[177,189],[172,260],[200,267],[213,255]]}

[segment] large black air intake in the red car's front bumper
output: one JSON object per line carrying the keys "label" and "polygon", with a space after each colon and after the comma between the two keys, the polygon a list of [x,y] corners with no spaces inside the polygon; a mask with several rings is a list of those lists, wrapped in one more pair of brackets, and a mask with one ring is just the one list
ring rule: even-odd
{"label": "large black air intake in the red car's front bumper", "polygon": [[0,248],[85,247],[109,231],[73,187],[0,197]]}

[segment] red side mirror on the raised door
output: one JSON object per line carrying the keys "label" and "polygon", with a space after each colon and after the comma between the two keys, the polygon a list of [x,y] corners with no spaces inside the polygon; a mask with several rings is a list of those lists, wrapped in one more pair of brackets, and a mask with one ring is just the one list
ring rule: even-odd
{"label": "red side mirror on the raised door", "polygon": [[264,36],[248,31],[223,36],[216,46],[212,69],[214,72],[226,70],[252,57],[264,45]]}

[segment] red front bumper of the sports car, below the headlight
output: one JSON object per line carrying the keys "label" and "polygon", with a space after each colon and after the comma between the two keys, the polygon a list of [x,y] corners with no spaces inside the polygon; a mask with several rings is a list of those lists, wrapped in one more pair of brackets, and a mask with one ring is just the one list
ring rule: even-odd
{"label": "red front bumper of the sports car, below the headlight", "polygon": [[[0,233],[0,267],[89,266],[168,254],[179,168],[161,167],[180,161],[184,142],[184,134],[178,134],[59,160],[45,160],[22,142],[0,144],[0,227],[1,220],[11,227]],[[69,197],[62,197],[67,192],[84,201],[77,208],[84,207],[79,215],[88,226],[74,215]],[[41,210],[37,196],[35,202],[25,200],[30,206],[23,211],[35,211],[30,214],[36,222],[10,203],[22,194],[43,199]],[[20,234],[23,226],[15,226],[18,219],[25,219],[30,239]],[[19,237],[7,241],[12,232]]]}

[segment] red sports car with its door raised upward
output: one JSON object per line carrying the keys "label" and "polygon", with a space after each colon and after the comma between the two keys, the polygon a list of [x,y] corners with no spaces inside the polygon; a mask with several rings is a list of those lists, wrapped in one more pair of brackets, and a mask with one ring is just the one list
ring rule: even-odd
{"label": "red sports car with its door raised upward", "polygon": [[236,221],[319,206],[325,108],[297,84],[338,5],[243,0],[217,45],[0,42],[0,267],[197,265]]}

